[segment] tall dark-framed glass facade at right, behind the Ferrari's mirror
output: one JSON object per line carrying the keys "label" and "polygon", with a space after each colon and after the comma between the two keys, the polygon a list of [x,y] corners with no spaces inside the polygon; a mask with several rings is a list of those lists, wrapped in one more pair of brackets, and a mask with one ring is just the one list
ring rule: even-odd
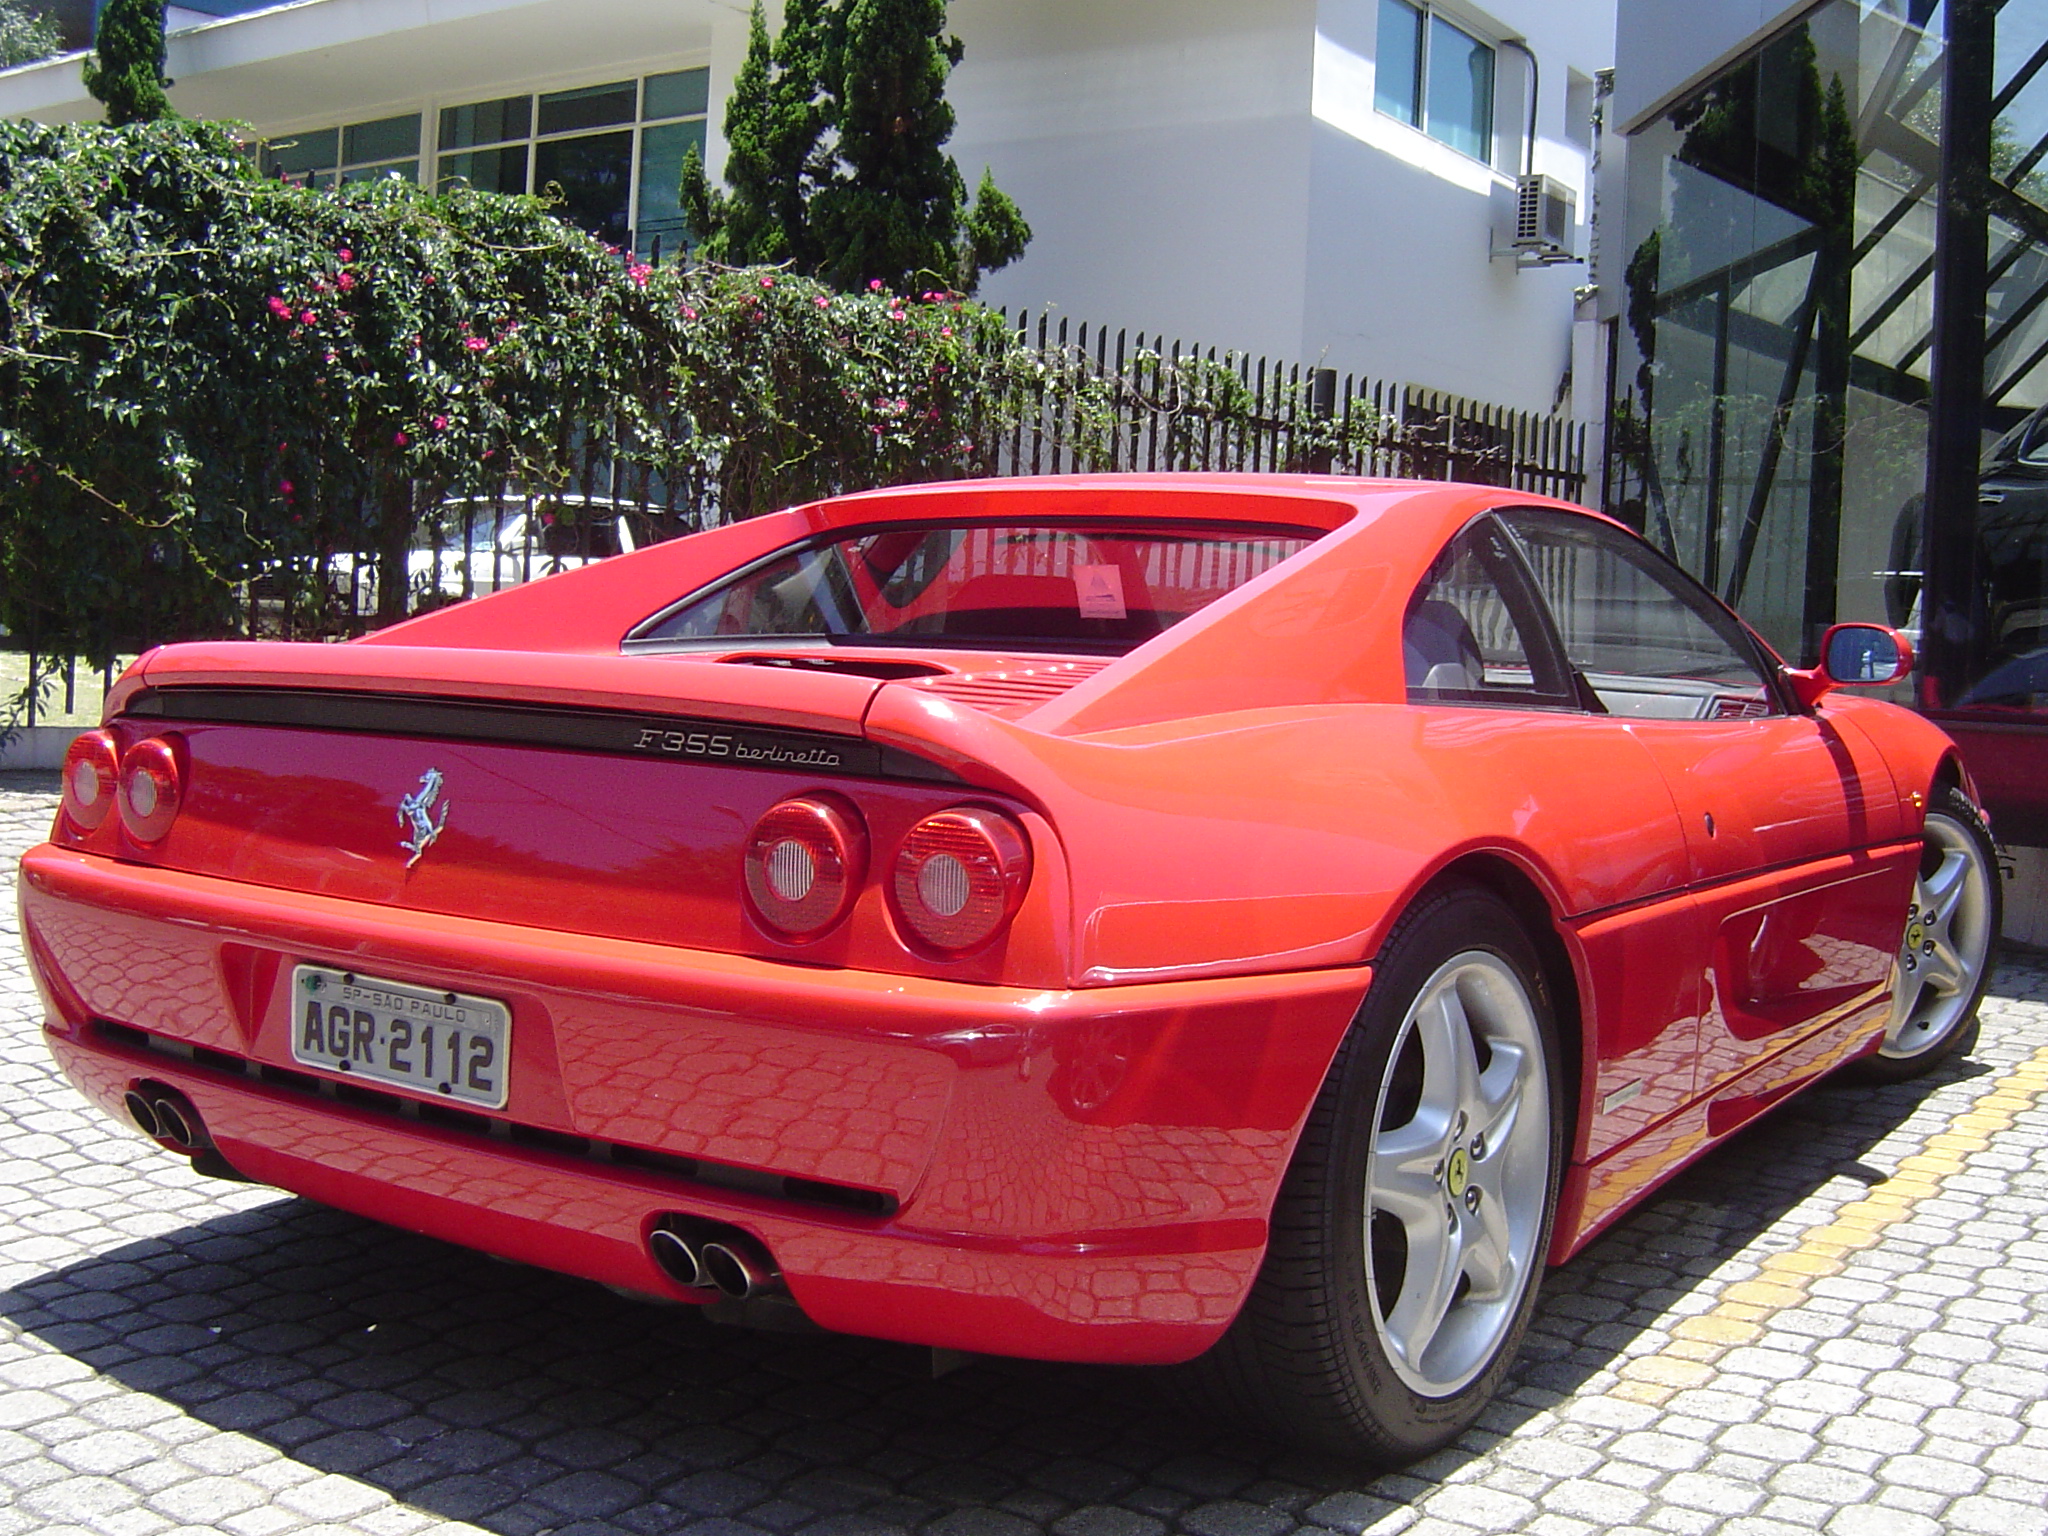
{"label": "tall dark-framed glass facade at right, behind the Ferrari's mirror", "polygon": [[1608,512],[1794,664],[1837,621],[1913,635],[1896,696],[2019,842],[2048,842],[2044,162],[2048,0],[1827,0],[1630,137],[1602,276]]}

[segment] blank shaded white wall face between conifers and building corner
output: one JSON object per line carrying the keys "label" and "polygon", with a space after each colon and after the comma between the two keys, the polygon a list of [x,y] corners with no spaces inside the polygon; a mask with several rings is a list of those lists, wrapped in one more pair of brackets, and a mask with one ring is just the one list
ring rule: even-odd
{"label": "blank shaded white wall face between conifers and building corner", "polygon": [[1292,356],[1309,223],[1313,0],[954,0],[969,186],[1024,209],[989,303]]}

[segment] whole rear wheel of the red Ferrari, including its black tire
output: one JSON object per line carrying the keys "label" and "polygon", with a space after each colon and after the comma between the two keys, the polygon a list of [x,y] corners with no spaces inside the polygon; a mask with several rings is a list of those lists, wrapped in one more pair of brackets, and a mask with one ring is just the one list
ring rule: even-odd
{"label": "whole rear wheel of the red Ferrari, including its black tire", "polygon": [[[1526,1018],[1511,1026],[1489,1018],[1518,1008]],[[1475,1094],[1511,1081],[1520,1116],[1477,1155],[1473,1122],[1456,1118],[1466,1110],[1454,1116],[1430,1077],[1456,1055],[1452,1018],[1479,1067]],[[1229,1333],[1182,1368],[1184,1384],[1255,1432],[1346,1458],[1397,1464],[1454,1440],[1497,1391],[1536,1303],[1565,1104],[1542,967],[1516,913],[1477,887],[1423,897],[1380,950],[1309,1114],[1251,1294]],[[1444,1133],[1436,1169],[1432,1126]],[[1444,1202],[1436,1214],[1432,1194]],[[1442,1241],[1436,1264],[1411,1249],[1411,1231]],[[1493,1282],[1475,1284],[1466,1264],[1491,1268]],[[1446,1296],[1440,1323],[1403,1321]]]}

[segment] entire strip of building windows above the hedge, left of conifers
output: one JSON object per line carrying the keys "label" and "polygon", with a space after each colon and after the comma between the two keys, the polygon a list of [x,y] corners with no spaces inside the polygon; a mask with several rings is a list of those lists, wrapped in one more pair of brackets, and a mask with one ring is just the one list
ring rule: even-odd
{"label": "entire strip of building windows above the hedge, left of conifers", "polygon": [[[553,195],[600,240],[676,252],[686,244],[682,162],[692,145],[705,152],[709,92],[709,70],[676,70],[303,129],[264,143],[262,168],[301,186],[403,176]],[[432,143],[422,143],[426,127]]]}

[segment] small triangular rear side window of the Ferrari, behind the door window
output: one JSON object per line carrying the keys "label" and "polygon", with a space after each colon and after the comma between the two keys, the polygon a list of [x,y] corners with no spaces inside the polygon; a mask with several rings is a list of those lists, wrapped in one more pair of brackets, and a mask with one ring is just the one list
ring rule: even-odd
{"label": "small triangular rear side window of the Ferrari, behind the door window", "polygon": [[1401,664],[1415,705],[1573,702],[1493,518],[1460,532],[1415,590]]}

